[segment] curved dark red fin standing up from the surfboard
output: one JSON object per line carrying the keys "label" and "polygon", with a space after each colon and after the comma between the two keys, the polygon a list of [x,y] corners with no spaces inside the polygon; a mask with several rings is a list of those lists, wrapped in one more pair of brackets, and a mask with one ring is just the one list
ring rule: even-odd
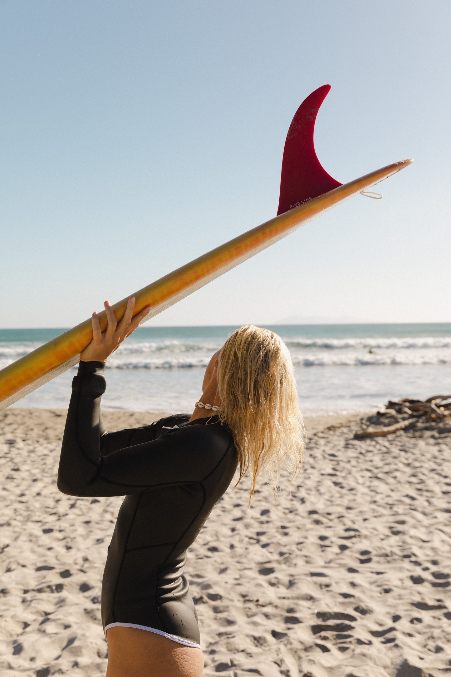
{"label": "curved dark red fin standing up from the surfboard", "polygon": [[293,117],[283,150],[278,216],[342,185],[321,167],[313,144],[316,114],[330,89],[331,85],[315,89]]}

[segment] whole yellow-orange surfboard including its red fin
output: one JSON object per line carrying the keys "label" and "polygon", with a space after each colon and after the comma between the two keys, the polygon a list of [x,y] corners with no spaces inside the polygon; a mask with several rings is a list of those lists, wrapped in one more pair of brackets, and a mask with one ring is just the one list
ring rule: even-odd
{"label": "whole yellow-orange surfboard including its red fin", "polygon": [[[321,167],[313,144],[316,114],[329,89],[329,85],[324,85],[310,94],[289,127],[277,216],[135,292],[135,313],[151,305],[144,322],[305,223],[413,162],[401,160],[344,185],[329,176]],[[128,298],[113,306],[117,320],[124,315]],[[107,325],[105,311],[99,313],[99,322],[104,330]],[[92,337],[90,318],[1,370],[0,410],[74,366]]]}

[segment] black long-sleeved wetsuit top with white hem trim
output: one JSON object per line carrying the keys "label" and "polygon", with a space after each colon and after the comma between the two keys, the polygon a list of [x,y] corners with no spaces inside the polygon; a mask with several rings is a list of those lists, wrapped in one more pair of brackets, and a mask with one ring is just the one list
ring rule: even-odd
{"label": "black long-sleeved wetsuit top with white hem trim", "polygon": [[186,550],[229,486],[237,452],[217,418],[170,416],[107,433],[101,362],[80,362],[72,383],[58,488],[71,496],[125,496],[103,573],[102,622],[139,626],[188,646],[199,628]]}

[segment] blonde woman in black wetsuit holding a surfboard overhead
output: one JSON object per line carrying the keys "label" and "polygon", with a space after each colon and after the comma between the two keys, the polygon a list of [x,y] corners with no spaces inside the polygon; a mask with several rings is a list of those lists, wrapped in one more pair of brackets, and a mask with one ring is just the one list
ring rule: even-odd
{"label": "blonde woman in black wetsuit holding a surfboard overhead", "polygon": [[116,324],[80,355],[72,383],[58,488],[71,496],[124,496],[105,565],[102,622],[107,677],[201,677],[204,659],[188,582],[187,548],[217,500],[247,473],[275,486],[281,463],[300,467],[302,418],[289,353],[279,336],[241,327],[210,359],[189,414],[107,433],[100,399],[108,356],[149,312],[128,300]]}

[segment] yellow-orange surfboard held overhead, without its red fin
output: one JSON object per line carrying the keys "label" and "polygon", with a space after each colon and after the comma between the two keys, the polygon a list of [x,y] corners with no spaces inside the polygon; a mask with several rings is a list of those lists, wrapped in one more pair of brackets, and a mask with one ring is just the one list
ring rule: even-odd
{"label": "yellow-orange surfboard held overhead, without its red fin", "polygon": [[[133,294],[136,299],[135,314],[146,305],[151,305],[151,311],[143,320],[146,322],[208,282],[298,230],[302,225],[333,209],[334,206],[348,200],[361,190],[371,188],[383,179],[387,179],[410,165],[411,162],[413,160],[400,160],[354,179],[354,181],[339,185],[329,192],[307,200],[262,225],[248,230],[156,282],[152,282]],[[117,320],[124,315],[126,303],[131,295],[129,294],[113,305]],[[107,324],[105,311],[99,313],[99,322],[103,331]],[[7,408],[77,364],[80,352],[89,345],[92,336],[91,318],[89,318],[1,370],[0,410]]]}

